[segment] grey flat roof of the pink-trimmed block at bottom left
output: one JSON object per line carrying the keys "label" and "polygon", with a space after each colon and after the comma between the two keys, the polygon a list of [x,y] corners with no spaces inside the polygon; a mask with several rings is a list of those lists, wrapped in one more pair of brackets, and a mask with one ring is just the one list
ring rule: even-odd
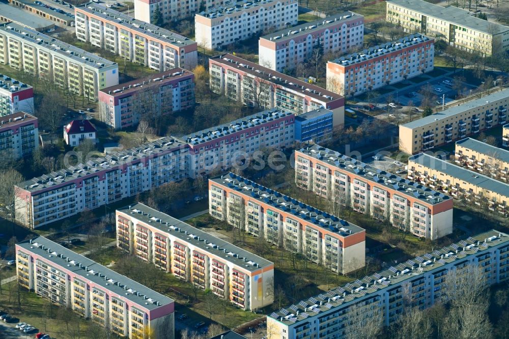
{"label": "grey flat roof of the pink-trimmed block at bottom left", "polygon": [[[60,267],[72,271],[78,279],[84,282],[92,281],[101,289],[118,294],[149,310],[174,302],[173,299],[136,283],[136,281],[125,275],[112,271],[47,238],[39,236],[32,240],[21,241],[17,245],[28,252],[43,257],[45,261],[54,264],[57,269]],[[145,296],[148,298],[145,299]]]}

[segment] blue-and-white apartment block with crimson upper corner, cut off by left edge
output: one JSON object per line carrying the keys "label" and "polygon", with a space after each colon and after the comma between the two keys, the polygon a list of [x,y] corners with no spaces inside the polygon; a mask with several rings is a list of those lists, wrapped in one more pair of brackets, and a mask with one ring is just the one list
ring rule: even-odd
{"label": "blue-and-white apartment block with crimson upper corner, cut off by left edge", "polygon": [[17,111],[33,112],[34,89],[7,75],[0,74],[0,117]]}

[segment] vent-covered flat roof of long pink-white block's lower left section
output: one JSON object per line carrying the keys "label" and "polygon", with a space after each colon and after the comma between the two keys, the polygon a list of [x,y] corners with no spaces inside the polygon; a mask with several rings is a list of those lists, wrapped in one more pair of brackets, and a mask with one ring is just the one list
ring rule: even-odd
{"label": "vent-covered flat roof of long pink-white block's lower left section", "polygon": [[131,164],[133,161],[157,155],[160,152],[181,148],[185,144],[172,137],[163,137],[152,143],[140,145],[121,152],[108,154],[101,158],[93,158],[87,163],[79,163],[74,166],[64,168],[60,171],[53,171],[30,180],[23,181],[17,186],[29,192],[37,192],[57,184],[65,184],[90,174],[101,171],[107,171],[111,168],[119,167],[123,164]]}

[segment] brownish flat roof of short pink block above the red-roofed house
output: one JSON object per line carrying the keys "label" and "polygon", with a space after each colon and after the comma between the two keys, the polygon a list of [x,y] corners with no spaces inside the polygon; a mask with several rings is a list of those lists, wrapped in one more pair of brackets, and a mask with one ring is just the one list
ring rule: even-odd
{"label": "brownish flat roof of short pink block above the red-roofed house", "polygon": [[[174,68],[161,73],[154,73],[143,78],[138,78],[132,81],[119,83],[114,86],[103,88],[99,92],[106,93],[111,96],[121,96],[130,92],[136,92],[140,87],[154,87],[159,86],[161,82],[168,82],[174,79],[183,78],[192,75],[191,71],[183,68]],[[108,93],[111,92],[111,93]]]}

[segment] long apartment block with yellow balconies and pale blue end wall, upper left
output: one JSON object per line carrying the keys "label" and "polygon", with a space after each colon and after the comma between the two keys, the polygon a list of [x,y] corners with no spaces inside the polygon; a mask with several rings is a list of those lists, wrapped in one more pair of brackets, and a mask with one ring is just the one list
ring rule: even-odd
{"label": "long apartment block with yellow balconies and pale blue end wall, upper left", "polygon": [[0,63],[92,100],[100,89],[119,83],[116,63],[12,22],[0,24]]}

